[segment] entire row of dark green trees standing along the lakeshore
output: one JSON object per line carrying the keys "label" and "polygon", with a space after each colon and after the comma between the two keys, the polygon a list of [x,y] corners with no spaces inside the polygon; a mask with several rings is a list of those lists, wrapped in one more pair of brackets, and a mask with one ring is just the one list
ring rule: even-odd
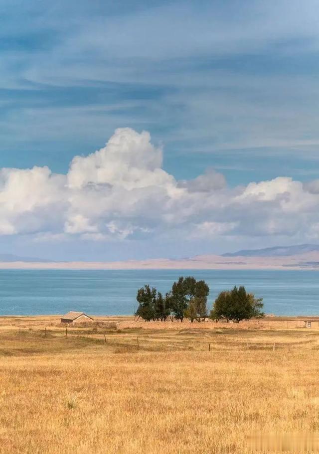
{"label": "entire row of dark green trees standing along the lakeshore", "polygon": [[200,322],[209,317],[215,321],[224,319],[237,323],[264,316],[263,299],[247,293],[245,287],[234,287],[221,292],[209,314],[208,294],[209,287],[205,281],[196,281],[192,276],[180,277],[164,297],[154,287],[145,285],[138,290],[136,299],[139,307],[135,315],[147,321],[165,321],[167,317],[183,321],[186,317],[191,322]]}

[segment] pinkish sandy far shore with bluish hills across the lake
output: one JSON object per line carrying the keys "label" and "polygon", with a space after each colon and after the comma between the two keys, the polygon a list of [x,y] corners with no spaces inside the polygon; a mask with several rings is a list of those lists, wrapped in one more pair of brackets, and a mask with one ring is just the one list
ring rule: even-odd
{"label": "pinkish sandy far shore with bluish hills across the lake", "polygon": [[319,269],[319,244],[243,249],[220,255],[183,259],[147,259],[118,262],[54,262],[35,257],[0,254],[0,269],[211,269],[211,270],[288,270]]}

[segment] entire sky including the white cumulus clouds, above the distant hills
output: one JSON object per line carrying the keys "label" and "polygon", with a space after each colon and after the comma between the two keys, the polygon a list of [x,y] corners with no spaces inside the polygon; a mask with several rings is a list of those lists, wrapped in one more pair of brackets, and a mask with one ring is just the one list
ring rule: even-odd
{"label": "entire sky including the white cumulus clouds, above the distant hills", "polygon": [[0,0],[0,252],[319,240],[315,0]]}

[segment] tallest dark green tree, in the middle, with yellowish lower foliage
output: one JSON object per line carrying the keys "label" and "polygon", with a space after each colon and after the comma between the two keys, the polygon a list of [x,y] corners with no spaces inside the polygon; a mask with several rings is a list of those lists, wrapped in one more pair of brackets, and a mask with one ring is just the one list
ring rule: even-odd
{"label": "tallest dark green tree, in the middle, with yellowish lower foliage", "polygon": [[174,282],[167,295],[170,308],[177,320],[189,317],[191,321],[207,317],[207,296],[209,287],[205,281],[196,281],[192,276]]}

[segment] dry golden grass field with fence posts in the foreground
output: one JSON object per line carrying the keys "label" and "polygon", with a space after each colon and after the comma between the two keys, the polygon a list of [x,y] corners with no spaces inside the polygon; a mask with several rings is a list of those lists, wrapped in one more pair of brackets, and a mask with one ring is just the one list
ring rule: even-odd
{"label": "dry golden grass field with fence posts in the foreground", "polygon": [[317,329],[42,321],[0,319],[0,453],[245,454],[254,433],[319,432]]}

